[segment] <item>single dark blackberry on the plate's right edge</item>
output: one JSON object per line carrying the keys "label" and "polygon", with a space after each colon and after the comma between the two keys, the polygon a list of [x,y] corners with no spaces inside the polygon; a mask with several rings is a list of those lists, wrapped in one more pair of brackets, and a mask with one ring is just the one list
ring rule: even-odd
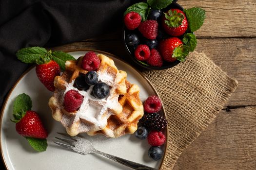
{"label": "single dark blackberry on the plate's right edge", "polygon": [[158,113],[145,114],[139,122],[142,126],[157,131],[162,131],[167,126],[167,120]]}

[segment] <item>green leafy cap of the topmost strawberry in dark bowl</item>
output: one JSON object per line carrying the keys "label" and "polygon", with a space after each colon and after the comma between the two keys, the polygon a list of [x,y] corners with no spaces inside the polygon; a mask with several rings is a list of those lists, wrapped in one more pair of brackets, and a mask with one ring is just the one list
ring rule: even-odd
{"label": "green leafy cap of the topmost strawberry in dark bowl", "polygon": [[169,27],[179,27],[182,24],[184,15],[171,9],[167,13],[164,13],[166,20],[164,21]]}

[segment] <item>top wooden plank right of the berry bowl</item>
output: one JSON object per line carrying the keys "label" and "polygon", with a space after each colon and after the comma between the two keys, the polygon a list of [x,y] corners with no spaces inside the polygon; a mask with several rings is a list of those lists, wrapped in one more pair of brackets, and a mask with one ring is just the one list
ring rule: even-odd
{"label": "top wooden plank right of the berry bowl", "polygon": [[197,37],[256,37],[256,0],[178,0],[184,8],[206,11]]}

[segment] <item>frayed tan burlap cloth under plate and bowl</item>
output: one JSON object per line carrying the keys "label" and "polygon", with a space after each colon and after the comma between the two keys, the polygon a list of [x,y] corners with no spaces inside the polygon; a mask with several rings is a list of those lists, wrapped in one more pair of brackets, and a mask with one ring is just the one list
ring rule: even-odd
{"label": "frayed tan burlap cloth under plate and bowl", "polygon": [[166,154],[161,170],[171,170],[181,152],[215,119],[237,87],[204,53],[160,71],[144,71],[158,91],[168,120]]}

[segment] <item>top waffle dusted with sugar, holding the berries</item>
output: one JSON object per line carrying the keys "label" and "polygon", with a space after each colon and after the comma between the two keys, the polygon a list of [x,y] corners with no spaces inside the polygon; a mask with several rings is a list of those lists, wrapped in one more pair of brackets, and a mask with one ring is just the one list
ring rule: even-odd
{"label": "top waffle dusted with sugar, holding the berries", "polygon": [[[56,90],[49,100],[49,106],[53,118],[61,122],[70,136],[101,130],[106,127],[107,119],[111,115],[122,113],[123,107],[118,102],[118,97],[126,93],[125,78],[127,74],[125,71],[118,70],[114,61],[107,56],[98,54],[98,58],[101,62],[97,70],[99,80],[111,87],[110,95],[106,99],[99,100],[90,97],[91,87],[85,92],[74,86],[75,79],[79,74],[88,72],[81,67],[82,57],[79,57],[78,60],[67,61],[63,74],[55,77]],[[63,105],[64,95],[70,89],[75,89],[84,96],[79,110],[74,112],[67,112]],[[86,114],[89,108],[90,114]]]}

